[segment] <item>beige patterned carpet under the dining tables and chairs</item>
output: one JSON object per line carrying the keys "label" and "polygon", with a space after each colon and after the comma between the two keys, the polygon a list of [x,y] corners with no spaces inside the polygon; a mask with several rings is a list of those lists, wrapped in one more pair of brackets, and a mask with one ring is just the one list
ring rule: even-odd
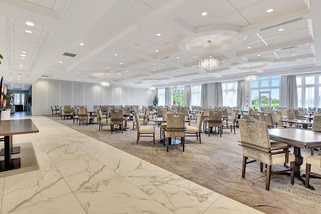
{"label": "beige patterned carpet under the dining tables and chairs", "polygon": [[[315,190],[310,190],[297,178],[291,185],[289,176],[271,175],[270,191],[266,191],[266,174],[264,170],[260,172],[257,162],[248,164],[245,178],[241,177],[239,129],[236,129],[236,135],[230,129],[224,129],[222,137],[214,133],[209,137],[202,132],[202,144],[196,137],[186,137],[185,152],[181,145],[170,146],[169,152],[166,152],[166,146],[159,143],[159,127],[152,122],[148,126],[155,126],[155,145],[150,137],[140,138],[137,145],[137,130],[133,130],[132,121],[127,122],[128,129],[123,134],[121,131],[111,134],[110,126],[98,131],[97,124],[79,126],[73,125],[73,120],[61,120],[51,115],[45,117],[265,213],[321,212],[321,179],[311,178],[310,184]],[[305,158],[310,155],[310,150],[302,149],[301,153]],[[317,153],[314,152],[314,155]],[[272,170],[277,169],[273,167]],[[301,171],[305,174],[305,161]],[[315,167],[312,171],[321,173]]]}

